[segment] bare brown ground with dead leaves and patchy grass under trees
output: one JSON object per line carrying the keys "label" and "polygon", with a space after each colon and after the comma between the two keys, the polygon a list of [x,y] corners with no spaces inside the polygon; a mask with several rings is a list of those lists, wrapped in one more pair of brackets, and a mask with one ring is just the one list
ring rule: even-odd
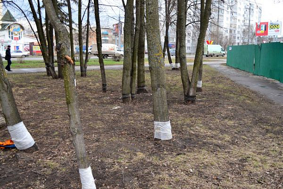
{"label": "bare brown ground with dead leaves and patchy grass under trees", "polygon": [[[283,108],[204,67],[195,105],[183,103],[179,71],[166,68],[173,139],[153,139],[152,97],[121,102],[122,70],[77,73],[85,143],[97,188],[282,188]],[[81,188],[63,80],[8,76],[39,151],[0,150],[0,188]],[[9,139],[0,128],[0,141]]]}

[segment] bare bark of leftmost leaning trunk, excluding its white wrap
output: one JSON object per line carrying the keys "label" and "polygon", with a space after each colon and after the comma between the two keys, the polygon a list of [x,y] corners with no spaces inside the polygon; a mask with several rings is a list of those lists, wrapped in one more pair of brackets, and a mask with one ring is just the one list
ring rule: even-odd
{"label": "bare bark of leftmost leaning trunk, excluding its white wrap", "polygon": [[[5,117],[7,126],[13,126],[22,122],[15,99],[11,84],[8,80],[7,74],[3,66],[3,60],[0,55],[0,104]],[[28,149],[24,149],[25,152],[34,152],[38,148],[36,144]]]}

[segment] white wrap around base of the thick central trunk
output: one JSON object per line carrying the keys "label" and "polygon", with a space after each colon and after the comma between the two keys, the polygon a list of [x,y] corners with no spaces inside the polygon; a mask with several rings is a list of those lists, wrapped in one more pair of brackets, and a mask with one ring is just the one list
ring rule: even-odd
{"label": "white wrap around base of the thick central trunk", "polygon": [[155,122],[155,138],[170,140],[172,138],[171,124],[169,122]]}

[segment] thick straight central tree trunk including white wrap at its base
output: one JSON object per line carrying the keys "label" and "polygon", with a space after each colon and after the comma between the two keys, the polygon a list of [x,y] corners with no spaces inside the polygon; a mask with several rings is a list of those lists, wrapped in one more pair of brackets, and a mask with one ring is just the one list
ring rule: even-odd
{"label": "thick straight central tree trunk including white wrap at its base", "polygon": [[155,121],[155,138],[168,140],[172,138],[172,133],[168,115],[164,58],[162,56],[159,31],[158,1],[147,0],[146,33]]}

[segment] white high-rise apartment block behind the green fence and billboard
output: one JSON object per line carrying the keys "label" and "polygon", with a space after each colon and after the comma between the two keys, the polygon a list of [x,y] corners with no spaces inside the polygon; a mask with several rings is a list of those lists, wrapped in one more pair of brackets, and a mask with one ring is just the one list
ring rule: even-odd
{"label": "white high-rise apartment block behind the green fence and billboard", "polygon": [[251,0],[218,0],[212,6],[207,39],[215,44],[252,44],[255,23],[261,21],[262,5]]}

